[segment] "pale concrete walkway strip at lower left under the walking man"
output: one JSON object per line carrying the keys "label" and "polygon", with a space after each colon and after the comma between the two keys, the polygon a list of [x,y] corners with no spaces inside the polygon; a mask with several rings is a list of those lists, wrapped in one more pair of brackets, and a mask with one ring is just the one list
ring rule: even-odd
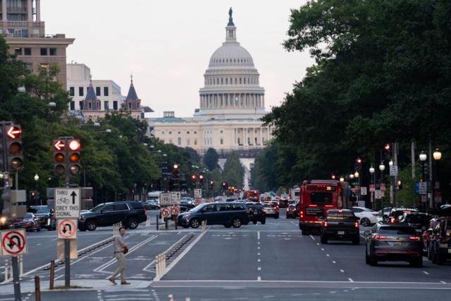
{"label": "pale concrete walkway strip at lower left under the walking man", "polygon": [[[86,279],[86,280],[71,280],[70,285],[80,286],[81,288],[71,288],[70,290],[109,290],[109,291],[121,291],[137,288],[148,288],[152,281],[132,280],[129,285],[113,285],[107,279]],[[55,287],[63,286],[64,281],[55,281]],[[58,289],[59,290],[59,289]],[[41,291],[56,291],[49,290],[49,282],[41,281]],[[14,293],[13,283],[7,283],[0,285],[0,295],[11,295]],[[35,293],[35,282],[27,281],[20,283],[20,293]]]}

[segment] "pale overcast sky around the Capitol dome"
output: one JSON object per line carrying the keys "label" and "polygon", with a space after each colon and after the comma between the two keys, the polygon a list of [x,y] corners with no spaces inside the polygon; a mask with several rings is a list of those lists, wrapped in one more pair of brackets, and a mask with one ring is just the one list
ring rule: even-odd
{"label": "pale overcast sky around the Capitol dome", "polygon": [[314,63],[308,51],[288,52],[290,9],[305,0],[42,0],[46,33],[75,38],[67,61],[85,63],[94,80],[113,80],[126,95],[130,74],[142,105],[190,117],[214,51],[226,39],[233,8],[237,41],[252,55],[265,88],[266,111]]}

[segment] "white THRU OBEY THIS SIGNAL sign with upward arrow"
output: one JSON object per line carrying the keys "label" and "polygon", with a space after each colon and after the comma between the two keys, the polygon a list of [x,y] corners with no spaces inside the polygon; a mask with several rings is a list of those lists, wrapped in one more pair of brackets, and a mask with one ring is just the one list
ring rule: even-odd
{"label": "white THRU OBEY THIS SIGNAL sign with upward arrow", "polygon": [[78,219],[80,217],[80,188],[55,189],[56,219]]}

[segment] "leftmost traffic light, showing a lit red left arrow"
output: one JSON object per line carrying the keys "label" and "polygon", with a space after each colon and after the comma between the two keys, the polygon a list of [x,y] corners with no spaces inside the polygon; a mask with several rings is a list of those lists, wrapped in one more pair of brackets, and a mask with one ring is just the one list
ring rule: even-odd
{"label": "leftmost traffic light, showing a lit red left arrow", "polygon": [[14,172],[23,168],[22,129],[18,124],[6,125],[6,171]]}

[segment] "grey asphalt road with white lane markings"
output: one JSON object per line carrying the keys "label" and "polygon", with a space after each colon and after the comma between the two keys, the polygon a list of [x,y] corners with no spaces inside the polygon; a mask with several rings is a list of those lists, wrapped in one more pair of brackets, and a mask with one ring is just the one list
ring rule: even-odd
{"label": "grey asphalt road with white lane markings", "polygon": [[[364,228],[361,228],[363,232]],[[111,237],[111,228],[79,233],[87,246]],[[48,287],[49,271],[36,269],[56,256],[56,233],[30,233],[24,258],[23,300],[35,300],[32,278]],[[451,293],[451,263],[437,266],[424,260],[422,268],[404,262],[369,266],[364,244],[330,242],[302,235],[295,219],[268,218],[265,225],[156,231],[155,225],[127,231],[130,246],[127,278],[131,285],[112,285],[106,278],[116,269],[111,243],[87,252],[71,263],[71,284],[78,291],[45,291],[42,300],[424,300]],[[42,244],[42,245],[38,245]],[[168,259],[160,281],[154,258],[180,250]],[[35,270],[35,271],[33,271]],[[28,272],[27,272],[28,271]],[[30,273],[29,271],[32,271]],[[63,266],[56,270],[63,281]],[[11,284],[0,285],[0,300],[13,300]]]}

